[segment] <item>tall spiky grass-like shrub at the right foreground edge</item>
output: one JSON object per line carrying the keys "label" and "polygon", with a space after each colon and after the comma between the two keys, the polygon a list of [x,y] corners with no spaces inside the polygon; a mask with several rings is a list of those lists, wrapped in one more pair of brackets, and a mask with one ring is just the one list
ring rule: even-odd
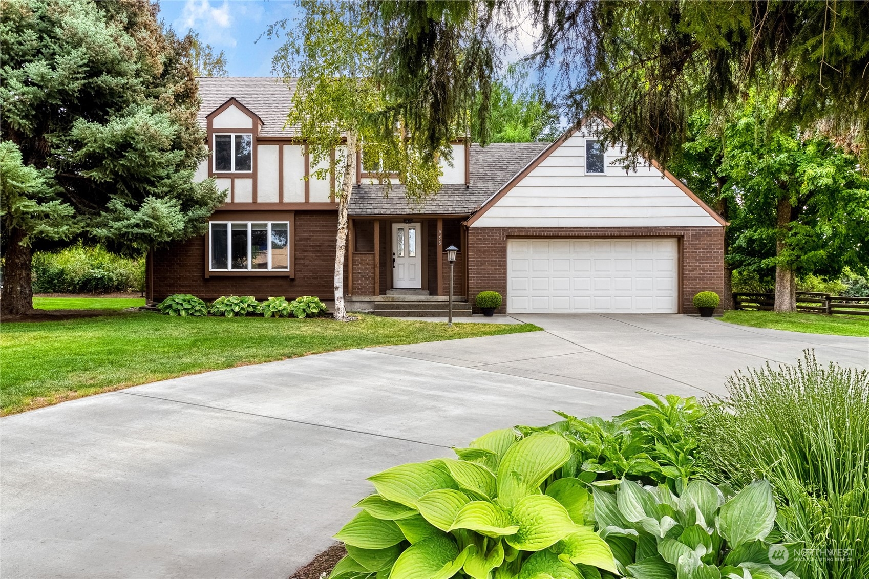
{"label": "tall spiky grass-like shrub at the right foreground edge", "polygon": [[713,480],[767,478],[786,540],[850,549],[814,551],[805,579],[869,576],[869,373],[824,368],[806,351],[796,366],[737,373],[727,392],[705,401],[698,423],[698,457]]}

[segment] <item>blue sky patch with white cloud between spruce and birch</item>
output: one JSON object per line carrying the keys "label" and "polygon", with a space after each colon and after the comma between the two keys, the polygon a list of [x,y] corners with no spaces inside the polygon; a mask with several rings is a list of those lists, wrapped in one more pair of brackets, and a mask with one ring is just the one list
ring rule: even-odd
{"label": "blue sky patch with white cloud between spruce and birch", "polygon": [[283,0],[160,0],[160,18],[179,34],[192,28],[216,53],[226,53],[230,77],[270,77],[280,40],[257,38],[269,24],[295,17]]}

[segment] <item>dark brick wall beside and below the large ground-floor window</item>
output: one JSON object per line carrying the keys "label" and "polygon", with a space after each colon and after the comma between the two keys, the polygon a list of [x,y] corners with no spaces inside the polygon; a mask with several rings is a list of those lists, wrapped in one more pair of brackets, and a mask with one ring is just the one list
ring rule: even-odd
{"label": "dark brick wall beside and below the large ground-floor window", "polygon": [[[295,213],[295,278],[255,275],[212,275],[206,278],[202,236],[178,243],[169,250],[155,251],[153,263],[149,263],[146,271],[149,296],[156,302],[172,294],[193,294],[204,300],[234,295],[254,296],[256,299],[319,296],[324,301],[331,301],[335,294],[332,276],[337,227],[335,211]],[[346,269],[344,276],[347,283]]]}

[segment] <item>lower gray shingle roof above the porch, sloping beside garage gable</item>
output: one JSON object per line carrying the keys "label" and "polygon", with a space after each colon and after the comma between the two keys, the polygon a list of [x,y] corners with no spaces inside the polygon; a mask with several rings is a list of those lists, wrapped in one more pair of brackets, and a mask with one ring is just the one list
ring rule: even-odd
{"label": "lower gray shingle roof above the porch, sloping beside garage gable", "polygon": [[464,184],[443,185],[434,196],[419,205],[412,205],[404,196],[403,185],[393,185],[391,190],[386,190],[380,184],[363,184],[353,190],[349,213],[353,216],[470,215],[548,146],[549,143],[491,143],[486,147],[472,144],[470,187],[466,188]]}

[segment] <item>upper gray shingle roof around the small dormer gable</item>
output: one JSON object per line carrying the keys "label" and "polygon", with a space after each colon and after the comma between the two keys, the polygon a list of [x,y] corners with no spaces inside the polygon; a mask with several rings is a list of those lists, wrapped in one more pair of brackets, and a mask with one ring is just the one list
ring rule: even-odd
{"label": "upper gray shingle roof around the small dormer gable", "polygon": [[202,106],[196,120],[205,129],[205,117],[230,98],[248,107],[262,119],[262,136],[294,136],[292,127],[283,130],[287,121],[295,80],[289,84],[274,77],[199,77]]}

